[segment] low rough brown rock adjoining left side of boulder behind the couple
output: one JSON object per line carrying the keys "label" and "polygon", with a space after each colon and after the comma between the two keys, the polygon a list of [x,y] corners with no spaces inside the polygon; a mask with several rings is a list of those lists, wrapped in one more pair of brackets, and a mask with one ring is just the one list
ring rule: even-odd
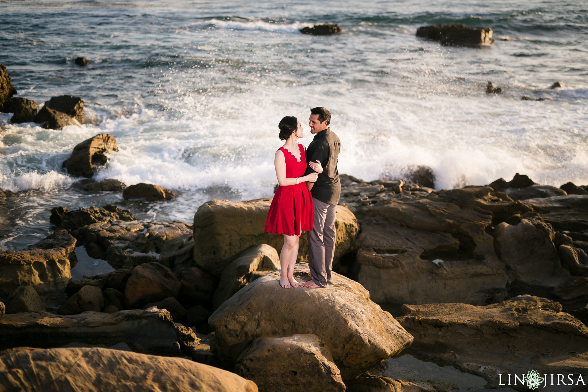
{"label": "low rough brown rock adjoining left side of boulder behind the couple", "polygon": [[98,222],[79,228],[89,256],[114,267],[158,262],[179,270],[194,264],[192,225],[183,222]]}

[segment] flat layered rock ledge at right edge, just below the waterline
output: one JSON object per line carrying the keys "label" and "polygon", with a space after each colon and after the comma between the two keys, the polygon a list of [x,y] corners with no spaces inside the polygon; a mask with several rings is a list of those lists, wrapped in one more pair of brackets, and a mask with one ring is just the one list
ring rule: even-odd
{"label": "flat layered rock ledge at right edge, just below the waterline", "polygon": [[558,232],[588,230],[588,195],[527,199],[524,203],[532,207]]}

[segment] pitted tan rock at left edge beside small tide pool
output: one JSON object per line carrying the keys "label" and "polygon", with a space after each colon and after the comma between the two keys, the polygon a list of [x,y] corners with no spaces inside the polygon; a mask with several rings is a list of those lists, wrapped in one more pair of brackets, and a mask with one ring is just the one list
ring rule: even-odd
{"label": "pitted tan rock at left edge beside small tide pool", "polygon": [[[72,238],[75,246],[75,239]],[[39,294],[62,290],[71,279],[69,248],[0,249],[0,296],[19,286],[33,286]]]}

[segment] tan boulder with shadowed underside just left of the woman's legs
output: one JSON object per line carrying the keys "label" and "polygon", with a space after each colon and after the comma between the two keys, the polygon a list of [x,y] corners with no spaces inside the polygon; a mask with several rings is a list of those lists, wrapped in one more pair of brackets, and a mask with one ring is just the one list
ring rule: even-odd
{"label": "tan boulder with shadowed underside just left of the woman's legs", "polygon": [[212,300],[212,308],[218,307],[243,287],[265,274],[280,269],[280,256],[268,244],[253,246],[238,259],[233,260],[220,275],[220,282]]}

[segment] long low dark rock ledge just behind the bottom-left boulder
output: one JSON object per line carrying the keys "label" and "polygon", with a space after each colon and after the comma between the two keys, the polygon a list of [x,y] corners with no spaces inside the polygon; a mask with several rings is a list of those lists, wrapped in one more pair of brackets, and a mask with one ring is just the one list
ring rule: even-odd
{"label": "long low dark rock ledge just behind the bottom-left boulder", "polygon": [[0,350],[28,346],[61,347],[76,342],[113,346],[126,343],[138,353],[183,356],[181,347],[197,343],[192,330],[176,326],[166,310],[87,311],[60,316],[46,311],[5,314],[0,318]]}

